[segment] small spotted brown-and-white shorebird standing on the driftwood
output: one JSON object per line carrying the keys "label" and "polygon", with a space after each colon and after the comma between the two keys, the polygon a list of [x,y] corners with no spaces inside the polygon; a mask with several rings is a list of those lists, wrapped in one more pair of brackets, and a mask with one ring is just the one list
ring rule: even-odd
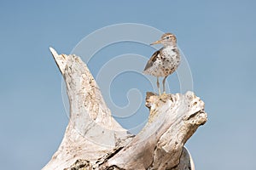
{"label": "small spotted brown-and-white shorebird standing on the driftwood", "polygon": [[177,67],[181,62],[181,56],[177,48],[177,38],[174,34],[170,32],[165,33],[160,37],[160,40],[153,42],[150,45],[158,43],[162,44],[163,48],[154,52],[151,58],[148,59],[148,63],[145,66],[143,73],[157,78],[156,85],[159,95],[161,95],[159,77],[164,77],[162,82],[163,94],[166,94],[166,78],[177,70]]}

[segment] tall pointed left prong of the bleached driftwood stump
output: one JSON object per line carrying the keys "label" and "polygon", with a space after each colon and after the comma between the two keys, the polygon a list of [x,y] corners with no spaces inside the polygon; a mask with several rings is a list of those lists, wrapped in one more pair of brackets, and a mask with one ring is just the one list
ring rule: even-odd
{"label": "tall pointed left prong of the bleached driftwood stump", "polygon": [[111,116],[84,62],[53,48],[50,52],[67,85],[70,120],[59,149],[43,169],[64,169],[79,158],[96,161],[117,144],[129,142],[132,135]]}

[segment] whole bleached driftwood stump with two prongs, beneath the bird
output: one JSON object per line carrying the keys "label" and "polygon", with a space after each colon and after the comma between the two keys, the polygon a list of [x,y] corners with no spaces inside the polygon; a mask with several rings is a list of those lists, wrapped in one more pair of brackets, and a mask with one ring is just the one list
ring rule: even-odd
{"label": "whole bleached driftwood stump with two prongs, beneath the bird", "polygon": [[195,169],[183,146],[207,122],[204,103],[195,94],[147,93],[148,122],[132,135],[111,116],[84,62],[76,55],[50,51],[67,84],[70,120],[44,170]]}

